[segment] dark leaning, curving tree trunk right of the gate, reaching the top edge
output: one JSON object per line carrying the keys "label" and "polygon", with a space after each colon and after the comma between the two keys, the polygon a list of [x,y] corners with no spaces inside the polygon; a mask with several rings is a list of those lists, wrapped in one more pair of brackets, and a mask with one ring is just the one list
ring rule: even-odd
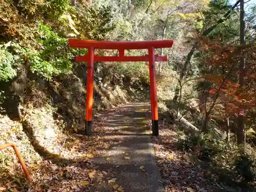
{"label": "dark leaning, curving tree trunk right of the gate, reaching the top edge", "polygon": [[[201,35],[202,35],[202,36],[207,36],[207,35],[208,35],[212,30],[214,30],[219,24],[221,24],[221,23],[223,23],[225,20],[227,20],[228,17],[229,17],[229,14],[231,13],[232,10],[234,10],[234,8],[236,8],[236,7],[238,6],[239,2],[240,2],[240,0],[237,1],[237,3],[234,4],[234,5],[231,7],[231,9],[226,12],[225,15],[223,15],[223,18],[221,18],[221,19],[218,20],[217,24],[215,24],[214,26],[211,26],[210,28],[208,28],[208,29],[206,29],[205,31],[203,31]],[[184,66],[183,66],[183,68],[182,68],[182,71],[180,72],[180,80],[183,79],[183,77],[184,77],[184,75],[185,75],[185,73],[186,73],[186,71],[187,71],[187,66],[188,66],[188,64],[190,63],[190,59],[192,58],[194,52],[196,51],[197,45],[198,45],[198,43],[195,42],[194,46],[191,48],[191,50],[190,50],[189,53],[187,54],[186,61],[185,61],[185,63],[184,63]],[[177,101],[178,95],[179,95],[179,88],[178,88],[178,86],[176,86],[175,95],[174,95],[174,99],[173,99],[174,101]]]}

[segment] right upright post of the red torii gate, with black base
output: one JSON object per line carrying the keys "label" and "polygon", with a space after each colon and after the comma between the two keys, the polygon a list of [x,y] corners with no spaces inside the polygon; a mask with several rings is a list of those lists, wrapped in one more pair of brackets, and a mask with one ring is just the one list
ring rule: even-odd
{"label": "right upright post of the red torii gate, with black base", "polygon": [[152,134],[153,136],[158,136],[158,108],[157,108],[155,48],[148,49],[148,62],[149,62],[149,68],[150,68],[150,99],[151,99],[151,116],[152,116]]}

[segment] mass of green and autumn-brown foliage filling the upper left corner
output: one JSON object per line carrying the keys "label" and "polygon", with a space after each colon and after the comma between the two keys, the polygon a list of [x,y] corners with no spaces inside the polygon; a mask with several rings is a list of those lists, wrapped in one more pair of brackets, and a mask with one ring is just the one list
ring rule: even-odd
{"label": "mass of green and autumn-brown foliage filling the upper left corner", "polygon": [[6,0],[0,5],[0,42],[11,42],[0,48],[0,80],[12,79],[25,62],[26,68],[45,79],[67,73],[71,59],[87,50],[69,48],[63,36],[75,32],[78,38],[100,40],[114,29],[110,7],[70,4],[70,0]]}

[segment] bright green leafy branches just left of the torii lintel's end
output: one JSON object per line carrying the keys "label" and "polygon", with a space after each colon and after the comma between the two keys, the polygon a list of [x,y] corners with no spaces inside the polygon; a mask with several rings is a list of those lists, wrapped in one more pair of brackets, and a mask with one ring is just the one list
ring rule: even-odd
{"label": "bright green leafy branches just left of the torii lintel's end", "polygon": [[37,41],[42,47],[30,57],[31,71],[49,80],[54,75],[69,71],[73,55],[67,39],[60,37],[45,25],[39,24],[37,29]]}

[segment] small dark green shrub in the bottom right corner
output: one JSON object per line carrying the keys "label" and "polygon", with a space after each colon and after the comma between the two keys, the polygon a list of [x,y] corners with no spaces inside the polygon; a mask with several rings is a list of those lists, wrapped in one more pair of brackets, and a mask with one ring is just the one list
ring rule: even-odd
{"label": "small dark green shrub in the bottom right corner", "polygon": [[252,182],[256,179],[255,164],[248,155],[241,155],[234,161],[234,169],[243,178],[244,182]]}

